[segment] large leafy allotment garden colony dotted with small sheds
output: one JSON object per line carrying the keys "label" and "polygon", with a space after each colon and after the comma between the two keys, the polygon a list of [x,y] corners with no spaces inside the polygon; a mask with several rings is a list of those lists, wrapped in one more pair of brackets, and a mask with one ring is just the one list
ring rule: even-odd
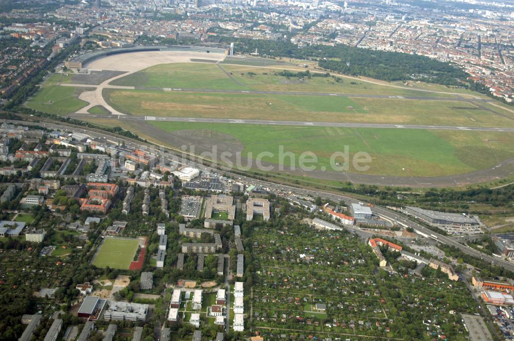
{"label": "large leafy allotment garden colony dotted with small sheds", "polygon": [[251,241],[257,271],[254,330],[465,339],[458,313],[475,312],[476,306],[460,282],[450,283],[435,271],[422,278],[379,270],[371,248],[345,232],[298,224],[256,229]]}

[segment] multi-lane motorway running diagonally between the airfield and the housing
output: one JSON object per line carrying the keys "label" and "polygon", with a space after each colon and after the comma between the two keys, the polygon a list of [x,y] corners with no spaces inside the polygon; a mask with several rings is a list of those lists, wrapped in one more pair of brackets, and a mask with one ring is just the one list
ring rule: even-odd
{"label": "multi-lane motorway running diagonally between the airfield and the housing", "polygon": [[[87,130],[87,129],[84,129],[77,125],[65,124],[65,123],[55,124],[52,122],[52,120],[42,119],[42,118],[38,118],[38,120],[40,121],[39,123],[30,123],[30,122],[26,122],[26,121],[15,121],[15,120],[0,120],[0,122],[8,121],[8,122],[14,122],[16,124],[22,124],[22,125],[34,124],[34,125],[44,126],[49,129],[56,129],[56,130],[61,130],[65,126],[71,126],[71,127],[73,127],[74,131],[83,132],[83,134],[87,134],[93,138],[105,138],[105,139],[109,139],[109,141],[118,141],[118,142],[124,141],[124,143],[127,146],[134,147],[134,148],[144,147],[144,148],[149,149],[150,151],[157,153],[157,154],[161,154],[164,149],[163,147],[156,147],[155,145],[150,144],[150,143],[131,140],[128,138],[117,136],[115,134],[109,134],[107,132]],[[43,123],[43,122],[47,122],[47,123]],[[177,159],[181,158],[180,156],[175,154],[175,151],[173,149],[169,149],[169,148],[166,148],[166,149],[167,149],[166,155],[173,154],[175,158],[177,158]],[[163,157],[164,155],[160,155],[160,156]],[[197,156],[193,156],[193,155],[191,155],[191,156],[198,159]],[[220,170],[222,170],[225,174],[232,175],[235,178],[240,178],[241,181],[244,181],[246,183],[254,183],[256,185],[264,186],[264,187],[270,188],[273,191],[285,191],[285,192],[291,192],[293,194],[302,195],[302,196],[321,197],[323,199],[329,199],[329,200],[333,200],[335,202],[340,202],[341,200],[344,200],[344,202],[346,204],[358,203],[362,200],[362,199],[355,199],[355,198],[352,198],[352,197],[349,197],[346,195],[328,193],[328,192],[319,191],[319,190],[307,190],[305,188],[293,187],[293,186],[289,186],[289,185],[282,185],[282,184],[277,184],[277,183],[273,183],[273,182],[269,182],[269,181],[256,180],[254,178],[242,176],[240,174],[230,173],[230,171],[223,169],[223,167],[214,168],[214,167],[206,166],[201,163],[197,163],[195,161],[188,160],[187,165],[189,165],[191,167],[205,169],[206,171],[212,171],[212,172],[219,172]],[[386,209],[385,207],[381,207],[381,206],[375,206],[375,207],[373,207],[373,211],[374,211],[374,213],[376,213],[378,215],[382,215],[383,217],[386,217],[387,219],[394,220],[401,224],[409,226],[409,227],[413,228],[417,233],[421,233],[421,234],[425,234],[425,235],[433,235],[437,238],[438,242],[448,244],[448,245],[453,245],[454,247],[458,248],[465,254],[481,258],[486,262],[489,262],[496,266],[504,267],[505,269],[514,272],[514,264],[513,263],[507,262],[503,259],[494,258],[485,253],[468,248],[465,245],[457,242],[456,240],[454,240],[452,238],[449,238],[449,237],[440,235],[436,232],[433,232],[432,230],[426,228],[425,226],[418,224],[416,221],[409,219],[403,215],[400,215],[399,213],[395,212],[394,210]]]}

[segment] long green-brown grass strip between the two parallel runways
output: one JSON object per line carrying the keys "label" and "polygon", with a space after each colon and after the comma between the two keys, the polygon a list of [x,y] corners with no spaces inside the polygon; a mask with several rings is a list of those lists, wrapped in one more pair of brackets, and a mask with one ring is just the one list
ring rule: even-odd
{"label": "long green-brown grass strip between the two parallel runways", "polygon": [[144,116],[514,126],[514,113],[509,115],[503,108],[491,107],[500,114],[497,115],[469,102],[120,89],[105,89],[103,96],[120,112]]}

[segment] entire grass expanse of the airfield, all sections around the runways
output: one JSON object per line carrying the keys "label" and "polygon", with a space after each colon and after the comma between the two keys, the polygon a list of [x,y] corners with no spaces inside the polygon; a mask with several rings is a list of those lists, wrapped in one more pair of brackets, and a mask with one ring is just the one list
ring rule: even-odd
{"label": "entire grass expanse of the airfield, all sections around the runways", "polygon": [[[465,89],[424,83],[405,85],[363,78],[287,77],[281,74],[286,68],[291,72],[304,72],[306,69],[287,63],[252,66],[230,62],[231,59],[226,59],[222,64],[154,65],[109,83],[111,86],[134,89],[106,87],[102,94],[112,108],[127,115],[514,127],[512,109],[499,102],[495,102],[499,105],[494,106],[489,102],[473,101],[487,98]],[[312,74],[315,71],[310,72]],[[27,106],[58,115],[75,112],[87,104],[78,99],[78,94],[85,88],[62,86],[60,83],[75,83],[76,77],[52,75],[42,90],[27,102]],[[86,83],[87,80],[82,77],[80,84]],[[345,96],[319,96],[316,93]],[[161,133],[194,131],[195,135],[209,136],[216,132],[229,136],[227,141],[237,140],[244,146],[241,151],[254,155],[261,151],[276,153],[279,145],[296,156],[304,151],[312,151],[318,156],[318,169],[321,166],[327,167],[332,153],[348,145],[351,155],[365,151],[372,156],[371,167],[364,172],[370,175],[449,176],[494,167],[514,157],[514,152],[508,148],[514,142],[514,133],[509,132],[279,127],[244,123],[133,123],[109,119],[109,111],[101,106],[91,108],[89,112],[105,116],[91,119],[90,122],[122,126],[156,142],[162,141],[157,138]],[[159,134],[152,134],[149,132],[151,129]],[[187,134],[182,134],[183,137],[187,137]],[[167,141],[162,142],[167,144]],[[181,143],[187,144],[188,141],[183,140]],[[174,146],[179,145],[175,143]],[[279,162],[277,158],[268,160]],[[350,169],[349,172],[353,171]]]}

